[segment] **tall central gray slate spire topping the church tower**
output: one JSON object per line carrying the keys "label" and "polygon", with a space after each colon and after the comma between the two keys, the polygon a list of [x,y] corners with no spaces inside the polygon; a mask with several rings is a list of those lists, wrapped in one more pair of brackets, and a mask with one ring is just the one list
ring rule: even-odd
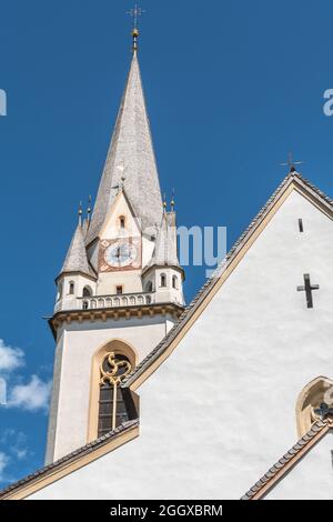
{"label": "tall central gray slate spire topping the church tower", "polygon": [[[124,182],[122,178],[124,177]],[[93,241],[124,184],[142,230],[162,219],[162,199],[137,52],[118,113],[85,244]]]}

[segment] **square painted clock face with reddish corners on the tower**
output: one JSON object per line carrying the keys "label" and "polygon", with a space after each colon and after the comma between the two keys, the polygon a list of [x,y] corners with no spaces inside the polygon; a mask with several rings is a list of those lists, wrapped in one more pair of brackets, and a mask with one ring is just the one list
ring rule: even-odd
{"label": "square painted clock face with reddish corners on the tower", "polygon": [[135,270],[141,265],[140,240],[118,239],[101,241],[100,271]]}

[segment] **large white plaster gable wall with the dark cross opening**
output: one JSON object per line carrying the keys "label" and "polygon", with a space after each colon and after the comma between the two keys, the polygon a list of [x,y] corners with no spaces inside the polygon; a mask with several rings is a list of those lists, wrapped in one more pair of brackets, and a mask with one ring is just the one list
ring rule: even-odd
{"label": "large white plaster gable wall with the dark cross opening", "polygon": [[[333,375],[332,237],[332,221],[294,191],[139,389],[140,438],[33,498],[242,496],[295,443],[303,387]],[[313,310],[296,292],[303,273],[321,287]]]}

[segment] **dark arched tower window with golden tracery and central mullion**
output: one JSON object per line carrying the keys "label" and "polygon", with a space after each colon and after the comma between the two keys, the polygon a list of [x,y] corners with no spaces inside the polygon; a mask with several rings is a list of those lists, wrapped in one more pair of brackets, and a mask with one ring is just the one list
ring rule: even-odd
{"label": "dark arched tower window with golden tracery and central mullion", "polygon": [[102,359],[98,436],[137,416],[130,390],[120,388],[131,371],[132,364],[122,353],[110,352]]}

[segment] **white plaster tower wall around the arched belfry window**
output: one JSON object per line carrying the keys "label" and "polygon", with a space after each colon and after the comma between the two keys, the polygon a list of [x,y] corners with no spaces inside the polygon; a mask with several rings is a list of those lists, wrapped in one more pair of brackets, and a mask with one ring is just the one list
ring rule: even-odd
{"label": "white plaster tower wall around the arched belfry window", "polygon": [[56,351],[47,462],[87,444],[92,357],[113,339],[133,347],[138,362],[172,328],[169,317],[72,322],[59,333]]}

